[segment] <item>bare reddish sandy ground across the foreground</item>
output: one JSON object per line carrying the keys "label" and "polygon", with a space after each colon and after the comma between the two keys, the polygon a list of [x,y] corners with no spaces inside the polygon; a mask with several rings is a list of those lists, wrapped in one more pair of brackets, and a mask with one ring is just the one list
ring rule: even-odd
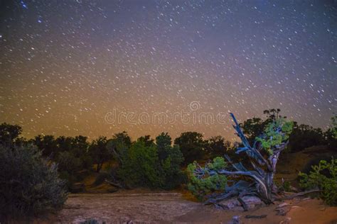
{"label": "bare reddish sandy ground across the foreground", "polygon": [[[337,207],[328,207],[322,201],[309,198],[287,202],[291,210],[282,216],[275,211],[277,204],[255,211],[223,211],[186,200],[179,193],[74,194],[62,211],[43,223],[81,223],[89,218],[100,223],[228,223],[233,215],[240,215],[242,223],[272,224],[287,218],[290,223],[337,223]],[[245,215],[267,217],[247,219]]]}

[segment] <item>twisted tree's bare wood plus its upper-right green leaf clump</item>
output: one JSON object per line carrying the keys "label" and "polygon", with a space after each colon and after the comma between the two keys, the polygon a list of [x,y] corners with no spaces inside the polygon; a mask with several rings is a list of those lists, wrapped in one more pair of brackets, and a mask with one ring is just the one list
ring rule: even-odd
{"label": "twisted tree's bare wood plus its upper-right green leaf clump", "polygon": [[[217,205],[219,201],[228,198],[237,197],[237,200],[246,205],[242,200],[243,196],[257,196],[264,203],[272,203],[277,198],[277,186],[274,184],[274,174],[276,172],[276,164],[279,154],[284,150],[288,143],[288,137],[292,130],[292,123],[282,120],[282,118],[274,118],[274,121],[267,125],[262,135],[256,138],[253,145],[250,145],[247,138],[242,132],[235,116],[230,113],[235,125],[237,136],[242,142],[242,147],[237,147],[236,153],[247,155],[247,162],[232,162],[232,159],[225,155],[230,166],[223,169],[214,169],[214,166],[201,167],[196,165],[193,175],[198,179],[204,177],[212,177],[213,175],[225,175],[229,179],[238,179],[237,182],[228,186],[221,194],[211,194],[205,203],[213,203]],[[246,168],[249,167],[250,169]]]}

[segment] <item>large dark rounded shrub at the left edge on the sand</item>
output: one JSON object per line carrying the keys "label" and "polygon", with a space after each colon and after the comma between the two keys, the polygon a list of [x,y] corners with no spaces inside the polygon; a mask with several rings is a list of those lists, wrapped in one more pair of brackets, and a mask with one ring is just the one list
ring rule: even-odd
{"label": "large dark rounded shrub at the left edge on the sand", "polygon": [[67,199],[57,165],[36,147],[0,145],[0,217],[19,217],[60,208]]}

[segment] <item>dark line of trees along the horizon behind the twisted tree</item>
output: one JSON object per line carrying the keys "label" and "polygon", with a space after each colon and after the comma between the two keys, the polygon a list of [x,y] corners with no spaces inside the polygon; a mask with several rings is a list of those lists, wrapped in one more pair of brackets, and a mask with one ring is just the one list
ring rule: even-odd
{"label": "dark line of trees along the horizon behind the twisted tree", "polygon": [[[265,118],[250,118],[240,123],[243,133],[252,143],[275,117],[281,117],[279,109],[264,111]],[[336,116],[334,117],[336,119]],[[334,120],[333,122],[336,122]],[[1,145],[35,145],[43,157],[58,164],[62,179],[68,187],[82,181],[91,171],[101,172],[102,179],[123,187],[146,186],[150,188],[172,189],[186,181],[181,168],[196,161],[207,161],[224,154],[235,157],[235,147],[222,136],[208,139],[197,132],[185,132],[172,141],[168,133],[156,138],[144,135],[132,140],[127,132],[116,133],[112,138],[100,136],[91,142],[87,137],[38,135],[26,140],[21,137],[18,125],[0,125]],[[289,136],[288,152],[298,152],[313,145],[328,145],[336,149],[336,128],[326,131],[310,125],[294,122],[294,130]],[[104,167],[112,162],[109,167]]]}

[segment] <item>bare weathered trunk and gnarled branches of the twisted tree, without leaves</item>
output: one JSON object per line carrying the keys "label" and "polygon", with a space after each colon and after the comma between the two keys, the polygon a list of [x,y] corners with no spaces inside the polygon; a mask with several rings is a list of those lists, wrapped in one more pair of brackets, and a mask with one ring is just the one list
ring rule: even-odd
{"label": "bare weathered trunk and gnarled branches of the twisted tree, without leaves", "polygon": [[[260,142],[255,141],[251,146],[245,137],[240,124],[237,122],[235,116],[230,113],[232,120],[235,125],[233,127],[236,130],[237,136],[240,138],[243,147],[237,147],[237,154],[245,152],[248,156],[248,160],[251,164],[252,169],[247,169],[244,164],[238,162],[232,162],[232,159],[228,155],[224,155],[225,159],[228,160],[228,164],[231,165],[230,168],[213,170],[208,167],[200,167],[194,170],[194,174],[198,178],[205,177],[205,175],[216,175],[224,174],[231,176],[233,178],[244,177],[244,179],[250,179],[248,185],[242,186],[234,184],[233,186],[226,186],[225,192],[223,194],[218,194],[208,198],[205,204],[214,204],[215,206],[219,201],[226,200],[232,197],[237,197],[237,200],[242,204],[242,207],[247,211],[247,204],[242,200],[242,196],[245,195],[256,195],[264,203],[273,203],[275,200],[275,195],[277,195],[277,186],[274,184],[274,174],[276,172],[276,165],[279,159],[279,154],[287,147],[287,142],[282,142],[279,145],[274,145],[272,147],[272,152],[270,155],[264,153],[262,150],[262,145]],[[282,127],[276,128],[276,132],[282,135]],[[262,133],[261,138],[266,138],[266,135]],[[267,154],[267,155],[266,155]],[[301,194],[297,194],[299,196]]]}

